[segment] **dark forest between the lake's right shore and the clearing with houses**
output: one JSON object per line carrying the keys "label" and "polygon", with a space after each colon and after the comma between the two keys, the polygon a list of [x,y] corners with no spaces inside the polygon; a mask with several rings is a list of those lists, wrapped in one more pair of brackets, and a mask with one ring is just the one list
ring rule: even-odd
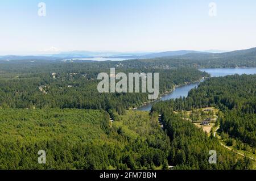
{"label": "dark forest between the lake's right shore and the clearing with houses", "polygon": [[256,146],[256,75],[209,78],[187,98],[155,104],[152,110],[193,110],[208,106],[220,108],[221,130],[253,147]]}

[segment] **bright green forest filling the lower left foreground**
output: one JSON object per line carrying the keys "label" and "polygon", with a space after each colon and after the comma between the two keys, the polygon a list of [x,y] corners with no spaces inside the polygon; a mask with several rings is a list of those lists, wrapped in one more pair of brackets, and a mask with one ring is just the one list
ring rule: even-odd
{"label": "bright green forest filling the lower left foreground", "polygon": [[[0,109],[1,169],[155,169],[170,141],[157,116],[97,110]],[[38,164],[45,150],[46,165]]]}

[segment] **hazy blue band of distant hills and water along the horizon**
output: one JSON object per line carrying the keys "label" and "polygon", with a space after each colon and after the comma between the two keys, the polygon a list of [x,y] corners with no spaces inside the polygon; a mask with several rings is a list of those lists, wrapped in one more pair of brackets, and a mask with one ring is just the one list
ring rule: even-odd
{"label": "hazy blue band of distant hills and water along the horizon", "polygon": [[[159,53],[115,53],[112,56],[104,56],[109,52],[88,52],[88,51],[72,51],[72,52],[63,52],[60,54],[52,54],[47,56],[0,56],[0,61],[20,61],[20,60],[29,60],[29,61],[67,61],[76,59],[86,58],[88,61],[90,58],[104,57],[115,59],[115,58],[123,58],[123,59],[143,59],[143,58],[159,58],[159,57],[167,57],[167,58],[181,58],[181,59],[192,59],[192,60],[210,60],[210,59],[220,59],[220,58],[253,58],[256,60],[256,48],[246,49],[246,50],[236,50],[233,52],[225,52],[225,53],[209,53],[209,52],[198,52],[194,50],[178,50],[178,51],[169,51],[169,52],[159,52]],[[111,53],[109,53],[111,54]],[[81,60],[82,61],[82,60]],[[91,62],[91,61],[89,61]]]}

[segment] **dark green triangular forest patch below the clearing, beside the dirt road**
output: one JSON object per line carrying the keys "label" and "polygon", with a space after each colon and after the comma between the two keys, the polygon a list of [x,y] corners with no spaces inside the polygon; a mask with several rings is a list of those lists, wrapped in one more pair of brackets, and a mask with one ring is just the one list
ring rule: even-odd
{"label": "dark green triangular forest patch below the clearing, beside the dirt road", "polygon": [[[252,163],[249,158],[239,158],[220,145],[218,139],[203,132],[190,121],[181,119],[180,115],[170,112],[168,109],[162,111],[164,129],[171,140],[171,149],[168,162],[175,169],[251,169]],[[209,151],[217,153],[217,163],[208,162]]]}

